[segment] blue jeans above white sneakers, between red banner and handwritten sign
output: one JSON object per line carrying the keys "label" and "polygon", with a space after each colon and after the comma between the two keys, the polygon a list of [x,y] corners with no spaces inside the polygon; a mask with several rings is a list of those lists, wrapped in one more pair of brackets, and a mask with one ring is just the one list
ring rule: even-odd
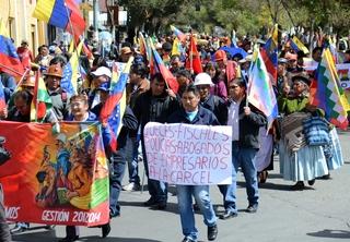
{"label": "blue jeans above white sneakers, between red banner and handwritten sign", "polygon": [[129,182],[140,183],[139,177],[139,145],[140,145],[140,135],[137,137],[128,137],[130,142],[127,142],[127,145],[131,145],[131,157],[128,158],[128,171],[129,171]]}

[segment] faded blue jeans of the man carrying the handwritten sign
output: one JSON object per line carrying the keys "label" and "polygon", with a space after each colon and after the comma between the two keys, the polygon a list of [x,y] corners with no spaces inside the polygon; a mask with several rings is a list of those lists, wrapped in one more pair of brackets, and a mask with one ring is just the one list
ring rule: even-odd
{"label": "faded blue jeans of the man carrying the handwritten sign", "polygon": [[210,202],[209,185],[176,185],[176,187],[183,234],[197,241],[198,230],[195,225],[192,196],[203,215],[206,226],[214,226],[218,219]]}

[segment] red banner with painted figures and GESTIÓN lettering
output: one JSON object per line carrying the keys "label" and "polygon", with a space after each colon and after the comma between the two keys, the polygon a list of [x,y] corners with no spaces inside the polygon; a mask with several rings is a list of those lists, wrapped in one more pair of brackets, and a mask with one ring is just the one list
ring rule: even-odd
{"label": "red banner with painted figures and GESTI\u00d3N lettering", "polygon": [[100,126],[0,122],[10,159],[0,167],[11,221],[97,226],[109,220],[109,179]]}

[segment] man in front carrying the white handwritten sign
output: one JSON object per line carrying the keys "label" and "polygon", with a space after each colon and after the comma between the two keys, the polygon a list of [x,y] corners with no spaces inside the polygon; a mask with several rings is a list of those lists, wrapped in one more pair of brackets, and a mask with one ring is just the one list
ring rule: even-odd
{"label": "man in front carrying the white handwritten sign", "polygon": [[[174,112],[170,123],[188,123],[195,125],[219,125],[215,116],[199,105],[199,90],[195,85],[187,86],[182,96],[183,108]],[[185,235],[183,242],[195,242],[198,239],[198,230],[195,227],[195,214],[192,209],[192,196],[203,214],[205,223],[208,226],[208,240],[217,239],[217,216],[209,197],[209,185],[176,185],[179,215]]]}

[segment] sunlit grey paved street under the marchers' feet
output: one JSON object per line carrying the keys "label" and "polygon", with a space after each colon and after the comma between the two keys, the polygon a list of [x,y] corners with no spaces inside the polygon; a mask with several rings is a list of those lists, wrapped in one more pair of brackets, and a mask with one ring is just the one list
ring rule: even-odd
{"label": "sunlit grey paved street under the marchers' feet", "polygon": [[[260,206],[257,214],[246,214],[245,189],[238,189],[238,217],[219,220],[219,242],[313,242],[350,241],[350,131],[340,132],[345,166],[331,172],[331,180],[317,180],[305,191],[292,192],[292,182],[283,181],[278,174],[278,161],[266,184],[260,189]],[[127,176],[126,176],[127,177]],[[240,174],[240,185],[243,176]],[[125,179],[127,183],[127,178]],[[217,186],[211,187],[211,197],[223,210],[222,197]],[[170,193],[168,208],[164,211],[150,210],[142,206],[149,198],[148,192],[124,192],[121,194],[121,217],[112,221],[108,238],[101,238],[101,229],[81,228],[81,241],[158,242],[182,241],[176,196]],[[200,240],[207,241],[207,228],[202,217],[196,221]],[[14,237],[14,241],[57,241],[65,237],[65,227],[55,230],[31,230]]]}

